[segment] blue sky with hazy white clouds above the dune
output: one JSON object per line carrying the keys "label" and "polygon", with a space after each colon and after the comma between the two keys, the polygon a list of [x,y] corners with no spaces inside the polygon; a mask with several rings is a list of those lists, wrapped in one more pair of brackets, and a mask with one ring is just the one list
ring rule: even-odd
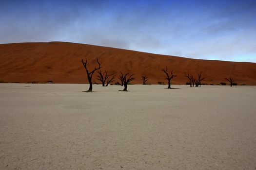
{"label": "blue sky with hazy white clouds above the dune", "polygon": [[256,62],[256,0],[0,0],[0,43]]}

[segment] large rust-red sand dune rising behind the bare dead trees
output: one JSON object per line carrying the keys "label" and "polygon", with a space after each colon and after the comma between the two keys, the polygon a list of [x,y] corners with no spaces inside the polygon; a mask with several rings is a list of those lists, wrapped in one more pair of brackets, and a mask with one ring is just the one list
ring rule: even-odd
{"label": "large rust-red sand dune rising behind the bare dead trees", "polygon": [[[202,83],[219,84],[232,76],[238,85],[256,85],[256,63],[198,60],[67,42],[0,44],[0,80],[87,83],[81,59],[87,59],[92,69],[97,66],[96,57],[102,70],[118,75],[120,71],[135,73],[133,84],[142,83],[142,74],[149,76],[150,84],[167,83],[161,71],[167,66],[177,74],[173,84],[185,84],[187,71],[203,71],[206,79]],[[93,79],[96,77],[97,73]]]}

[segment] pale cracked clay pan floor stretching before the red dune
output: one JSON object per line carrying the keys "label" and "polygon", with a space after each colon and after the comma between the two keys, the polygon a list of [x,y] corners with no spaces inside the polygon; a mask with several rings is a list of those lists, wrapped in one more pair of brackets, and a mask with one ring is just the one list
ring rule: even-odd
{"label": "pale cracked clay pan floor stretching before the red dune", "polygon": [[255,170],[256,86],[0,84],[0,170]]}

